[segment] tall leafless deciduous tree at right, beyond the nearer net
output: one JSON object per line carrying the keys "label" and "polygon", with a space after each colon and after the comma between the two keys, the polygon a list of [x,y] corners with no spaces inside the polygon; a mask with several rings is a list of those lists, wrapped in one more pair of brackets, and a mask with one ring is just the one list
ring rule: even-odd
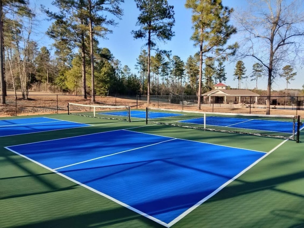
{"label": "tall leafless deciduous tree at right, beyond the nearer net", "polygon": [[266,114],[270,114],[274,71],[283,62],[295,62],[301,54],[304,35],[302,0],[248,1],[248,11],[238,15],[239,31],[244,32],[240,54],[253,57],[268,69]]}

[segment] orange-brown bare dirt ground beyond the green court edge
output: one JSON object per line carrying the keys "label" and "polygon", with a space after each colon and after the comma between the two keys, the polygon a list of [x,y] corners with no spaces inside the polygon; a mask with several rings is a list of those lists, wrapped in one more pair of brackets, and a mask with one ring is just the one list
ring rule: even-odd
{"label": "orange-brown bare dirt ground beyond the green court edge", "polygon": [[[78,103],[92,105],[90,96],[87,99],[76,95],[57,95],[49,92],[29,91],[28,100],[22,99],[21,92],[17,92],[17,96],[11,90],[7,91],[6,104],[0,105],[0,116],[24,116],[24,115],[39,115],[39,114],[55,114],[67,113],[67,104]],[[17,97],[17,98],[16,98]],[[133,99],[132,99],[133,98]],[[144,98],[143,98],[144,99]],[[115,106],[131,106],[131,109],[146,109],[163,108],[176,109],[200,112],[224,112],[224,113],[251,113],[265,114],[265,109],[249,109],[244,105],[233,105],[232,107],[219,107],[212,104],[201,105],[201,110],[198,110],[197,105],[181,105],[171,104],[168,102],[151,102],[147,105],[146,100],[136,100],[136,96],[131,98],[118,98],[112,96],[95,96],[96,105],[115,105]],[[304,116],[303,110],[282,110],[271,109],[271,114],[275,115],[301,115]]]}

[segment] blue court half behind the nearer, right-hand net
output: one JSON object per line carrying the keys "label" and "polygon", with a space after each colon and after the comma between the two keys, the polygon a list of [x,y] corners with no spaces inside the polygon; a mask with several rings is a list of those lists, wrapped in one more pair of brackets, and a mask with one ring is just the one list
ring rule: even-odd
{"label": "blue court half behind the nearer, right-hand net", "polygon": [[[182,123],[204,124],[204,118],[181,120]],[[297,125],[297,123],[295,123]],[[206,125],[292,134],[293,122],[207,116]],[[295,126],[296,127],[296,126]]]}

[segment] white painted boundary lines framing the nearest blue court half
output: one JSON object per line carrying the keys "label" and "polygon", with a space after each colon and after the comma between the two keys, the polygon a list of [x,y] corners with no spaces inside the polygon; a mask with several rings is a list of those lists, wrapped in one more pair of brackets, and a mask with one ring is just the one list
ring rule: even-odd
{"label": "white painted boundary lines framing the nearest blue court half", "polygon": [[[146,126],[152,126],[152,125],[146,125]],[[132,128],[128,128],[128,129],[134,129],[134,128],[140,128],[140,127],[144,127],[144,126],[132,127]],[[126,130],[126,131],[128,131],[128,129],[120,129],[120,130]],[[304,126],[300,130],[302,130],[302,129],[304,129]],[[113,130],[113,131],[118,131],[118,130]],[[106,131],[106,132],[112,132],[112,131]],[[137,132],[137,131],[132,131],[132,132],[143,133],[143,132]],[[101,133],[105,133],[105,132],[101,132]],[[92,134],[98,134],[98,133],[92,133]],[[88,135],[92,135],[92,134],[88,134]],[[143,134],[149,134],[149,133],[143,133]],[[154,135],[154,134],[149,134],[149,135]],[[156,135],[156,136],[160,136],[160,135]],[[79,137],[79,136],[72,136],[72,137],[67,137],[67,138],[73,138],[73,137]],[[162,137],[172,138],[172,137],[168,137],[168,136],[162,136]],[[174,139],[178,139],[178,138],[172,138],[171,140],[174,140]],[[60,139],[54,139],[54,140],[60,140]],[[167,141],[171,141],[171,140],[167,140]],[[185,140],[185,139],[181,139],[181,140]],[[52,141],[52,140],[45,140],[45,141]],[[192,141],[192,140],[186,140],[186,141]],[[124,207],[126,207],[126,208],[128,208],[128,209],[130,209],[130,210],[132,210],[132,211],[134,211],[134,212],[136,212],[136,213],[138,213],[138,214],[140,214],[140,215],[148,218],[148,219],[151,219],[152,221],[154,221],[156,223],[159,223],[159,224],[161,224],[161,225],[163,225],[165,227],[170,227],[170,226],[174,225],[175,223],[177,223],[182,218],[184,218],[186,215],[188,215],[190,212],[192,212],[198,206],[200,206],[203,202],[205,202],[206,200],[210,199],[212,196],[214,196],[216,193],[218,193],[220,190],[222,190],[224,187],[226,187],[232,181],[234,181],[235,179],[237,179],[238,177],[240,177],[242,174],[244,174],[246,171],[248,171],[250,168],[252,168],[258,162],[260,162],[262,159],[264,159],[265,157],[267,157],[269,154],[271,154],[277,148],[279,148],[280,146],[282,146],[286,141],[288,141],[288,139],[286,139],[283,142],[281,142],[280,144],[278,144],[276,147],[274,147],[268,153],[267,152],[263,152],[263,153],[266,153],[264,156],[262,156],[261,158],[259,158],[257,161],[255,161],[253,164],[251,164],[250,166],[248,166],[247,168],[245,168],[243,171],[241,171],[239,174],[237,174],[236,176],[234,176],[233,178],[231,178],[229,181],[227,181],[226,183],[224,183],[223,185],[221,185],[219,188],[217,188],[214,192],[212,192],[211,194],[209,194],[208,196],[206,196],[204,199],[202,199],[201,201],[197,202],[194,206],[192,206],[191,208],[189,208],[188,210],[186,210],[185,212],[183,212],[180,216],[178,216],[175,219],[173,219],[170,223],[164,223],[163,221],[161,221],[159,219],[156,219],[153,216],[150,216],[150,215],[148,215],[148,214],[146,214],[144,212],[141,212],[141,211],[139,211],[139,210],[137,210],[137,209],[135,209],[135,208],[133,208],[133,207],[131,207],[131,206],[129,206],[129,205],[127,205],[127,204],[119,201],[119,200],[117,200],[117,199],[112,198],[109,195],[106,195],[106,194],[104,194],[102,192],[99,192],[99,191],[95,190],[94,188],[91,188],[91,187],[89,187],[89,186],[87,186],[87,185],[85,185],[85,184],[83,184],[83,183],[81,183],[79,181],[76,181],[76,180],[74,180],[74,179],[72,179],[72,178],[70,178],[70,177],[68,177],[68,176],[66,176],[64,174],[61,174],[60,172],[58,172],[58,171],[56,171],[54,169],[51,169],[51,168],[49,168],[49,167],[47,167],[47,166],[45,166],[43,164],[40,164],[39,162],[36,162],[36,161],[34,161],[33,159],[31,159],[29,157],[26,157],[26,156],[24,156],[22,154],[19,154],[18,152],[14,151],[14,150],[12,150],[12,149],[10,149],[8,147],[5,147],[5,148],[8,149],[8,150],[10,150],[10,151],[12,151],[15,154],[20,155],[21,157],[24,157],[24,158],[26,158],[26,159],[28,159],[28,160],[30,160],[30,161],[32,161],[32,162],[34,162],[34,163],[42,166],[43,168],[46,168],[46,169],[48,169],[48,170],[50,170],[50,171],[52,171],[54,173],[57,173],[58,175],[66,178],[66,179],[68,179],[68,180],[70,180],[70,181],[72,181],[72,182],[74,182],[74,183],[76,183],[78,185],[81,185],[81,186],[83,186],[83,187],[91,190],[92,192],[95,192],[95,193],[97,193],[99,195],[102,195],[102,196],[104,196],[104,197],[112,200],[113,202],[116,202],[116,203],[120,204],[121,206],[124,206]],[[193,141],[193,142],[199,142],[199,141]],[[34,142],[34,143],[38,143],[38,142]],[[204,143],[204,142],[199,142],[199,143]],[[31,144],[31,143],[25,143],[25,144]],[[25,144],[20,144],[20,145],[25,145]],[[218,145],[218,144],[213,144],[213,143],[207,143],[207,144]],[[15,145],[15,146],[17,146],[17,145]],[[219,146],[222,146],[222,145],[219,145]],[[223,146],[223,147],[225,147],[225,146]],[[236,148],[236,147],[232,147],[232,148]],[[244,148],[238,148],[238,149],[248,150],[248,149],[244,149]],[[255,151],[255,150],[252,150],[252,151]],[[261,151],[257,151],[257,152],[261,152]]]}

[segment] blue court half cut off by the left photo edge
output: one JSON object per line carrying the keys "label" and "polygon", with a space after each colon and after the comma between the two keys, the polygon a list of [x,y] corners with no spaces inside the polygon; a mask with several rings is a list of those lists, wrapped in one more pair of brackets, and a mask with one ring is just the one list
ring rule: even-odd
{"label": "blue court half cut off by the left photo edge", "polygon": [[0,137],[90,126],[48,117],[0,120]]}

